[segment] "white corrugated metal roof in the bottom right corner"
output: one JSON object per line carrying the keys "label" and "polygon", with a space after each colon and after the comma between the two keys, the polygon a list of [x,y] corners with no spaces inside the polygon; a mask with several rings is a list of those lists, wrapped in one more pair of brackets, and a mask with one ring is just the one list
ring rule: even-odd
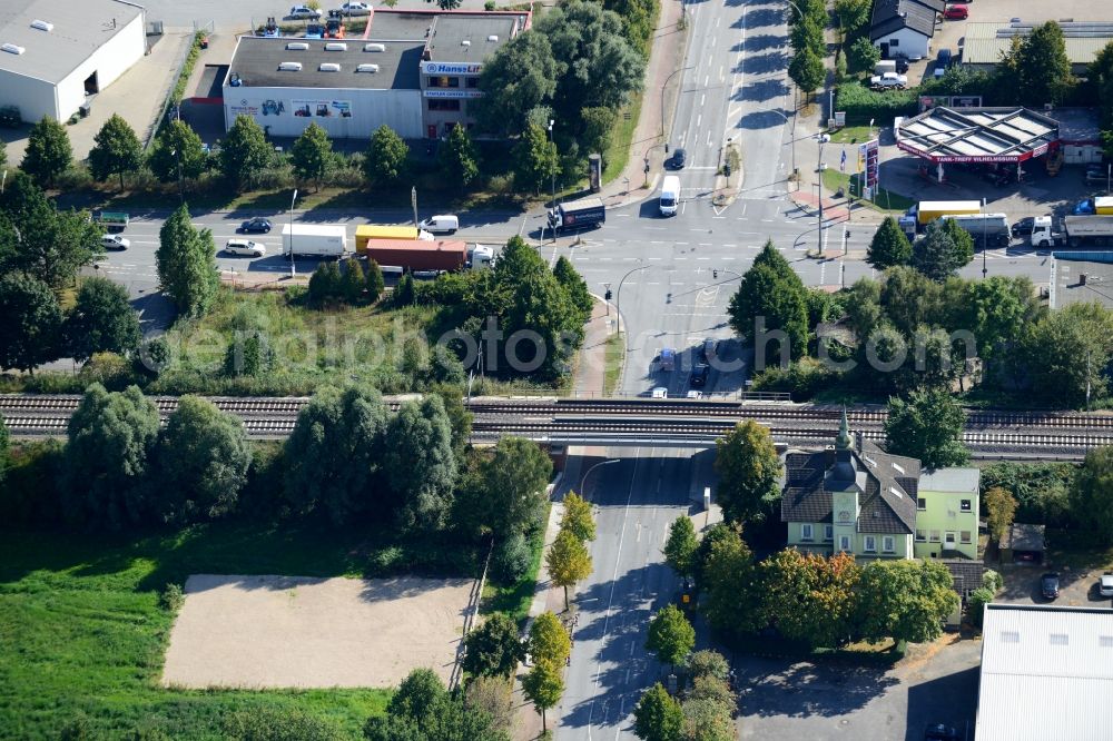
{"label": "white corrugated metal roof in the bottom right corner", "polygon": [[1111,737],[1113,611],[986,605],[978,741]]}

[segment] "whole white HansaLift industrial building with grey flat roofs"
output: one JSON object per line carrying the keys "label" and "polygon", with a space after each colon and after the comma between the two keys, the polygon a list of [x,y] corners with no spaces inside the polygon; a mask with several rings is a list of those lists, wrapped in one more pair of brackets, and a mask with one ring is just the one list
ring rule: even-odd
{"label": "whole white HansaLift industrial building with grey flat roofs", "polygon": [[530,20],[375,10],[358,38],[242,37],[224,82],[225,127],[250,116],[276,137],[297,137],[311,121],[337,139],[365,139],[384,124],[406,139],[471,129],[483,61]]}

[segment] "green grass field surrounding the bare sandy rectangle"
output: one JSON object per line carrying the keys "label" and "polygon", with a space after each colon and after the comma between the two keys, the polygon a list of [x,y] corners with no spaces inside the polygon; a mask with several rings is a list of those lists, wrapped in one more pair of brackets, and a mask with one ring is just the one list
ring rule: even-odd
{"label": "green grass field surrounding the bare sandy rectangle", "polygon": [[160,689],[173,623],[160,603],[166,585],[193,573],[474,575],[477,560],[467,547],[401,543],[366,527],[223,523],[132,537],[0,531],[0,738],[57,739],[78,719],[95,739],[134,729],[221,738],[225,715],[276,708],[356,738],[388,691]]}

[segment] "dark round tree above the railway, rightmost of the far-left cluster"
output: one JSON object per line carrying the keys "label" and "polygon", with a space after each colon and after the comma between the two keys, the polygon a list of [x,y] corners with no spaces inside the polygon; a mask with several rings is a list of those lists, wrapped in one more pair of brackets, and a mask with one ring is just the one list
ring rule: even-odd
{"label": "dark round tree above the railway, rightmost of the far-left cluster", "polygon": [[108,278],[87,278],[66,319],[66,345],[78,360],[93,353],[128,355],[139,347],[142,333],[128,292]]}

